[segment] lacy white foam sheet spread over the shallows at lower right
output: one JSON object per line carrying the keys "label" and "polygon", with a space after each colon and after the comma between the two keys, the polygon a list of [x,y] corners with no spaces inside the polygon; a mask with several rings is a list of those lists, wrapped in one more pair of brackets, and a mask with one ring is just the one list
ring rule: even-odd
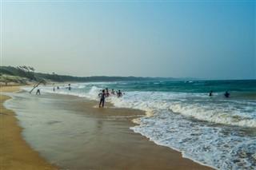
{"label": "lacy white foam sheet spread over the shallows at lower right", "polygon": [[255,137],[235,134],[235,129],[206,126],[182,115],[161,112],[137,119],[136,123],[139,125],[131,128],[134,132],[181,151],[199,164],[218,169],[254,169],[254,160],[244,155],[255,152]]}

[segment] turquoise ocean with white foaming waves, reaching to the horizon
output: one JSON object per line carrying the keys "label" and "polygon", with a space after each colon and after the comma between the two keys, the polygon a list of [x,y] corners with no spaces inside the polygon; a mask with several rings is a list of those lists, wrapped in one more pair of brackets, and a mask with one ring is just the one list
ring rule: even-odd
{"label": "turquoise ocean with white foaming waves, reaching to the horizon", "polygon": [[71,90],[57,86],[39,89],[96,101],[102,89],[120,89],[122,97],[110,95],[106,103],[145,111],[133,120],[134,132],[212,168],[256,167],[255,80],[87,82],[71,84]]}

